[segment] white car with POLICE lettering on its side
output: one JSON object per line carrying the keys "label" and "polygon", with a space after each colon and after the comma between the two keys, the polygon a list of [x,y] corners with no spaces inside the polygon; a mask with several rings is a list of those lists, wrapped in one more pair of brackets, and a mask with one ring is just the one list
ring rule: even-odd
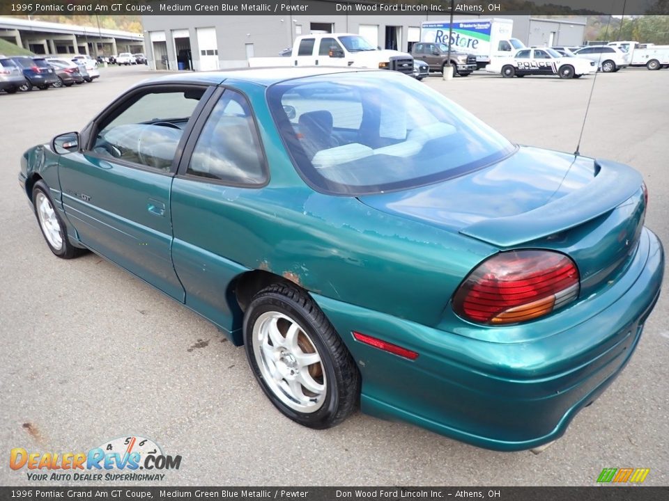
{"label": "white car with POLICE lettering on its side", "polygon": [[555,74],[570,79],[597,72],[597,64],[585,58],[562,56],[550,47],[541,47],[521,49],[513,57],[493,58],[486,66],[486,72],[502,74],[505,78]]}

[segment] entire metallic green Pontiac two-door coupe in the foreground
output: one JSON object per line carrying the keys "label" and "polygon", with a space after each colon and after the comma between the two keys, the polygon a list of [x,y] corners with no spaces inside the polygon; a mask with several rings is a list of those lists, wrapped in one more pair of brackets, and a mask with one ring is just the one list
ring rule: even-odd
{"label": "entire metallic green Pontiac two-door coupe in the foreground", "polygon": [[509,143],[387,71],[169,75],[28,150],[53,253],[90,249],[208,318],[282,413],[362,411],[482,447],[561,436],[659,296],[647,191]]}

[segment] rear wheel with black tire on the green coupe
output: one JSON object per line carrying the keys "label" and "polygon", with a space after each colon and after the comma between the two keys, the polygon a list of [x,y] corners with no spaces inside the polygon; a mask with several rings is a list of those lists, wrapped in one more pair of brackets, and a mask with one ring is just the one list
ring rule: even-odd
{"label": "rear wheel with black tire on the green coupe", "polygon": [[249,365],[272,404],[302,426],[344,421],[360,397],[351,353],[302,290],[275,284],[258,292],[244,315]]}

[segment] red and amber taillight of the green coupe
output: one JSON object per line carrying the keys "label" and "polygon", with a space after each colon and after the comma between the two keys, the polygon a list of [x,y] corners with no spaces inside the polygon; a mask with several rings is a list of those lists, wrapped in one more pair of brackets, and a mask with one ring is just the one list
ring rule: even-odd
{"label": "red and amber taillight of the green coupe", "polygon": [[517,324],[574,301],[578,289],[578,269],[566,255],[513,250],[472,271],[453,296],[453,309],[482,324]]}

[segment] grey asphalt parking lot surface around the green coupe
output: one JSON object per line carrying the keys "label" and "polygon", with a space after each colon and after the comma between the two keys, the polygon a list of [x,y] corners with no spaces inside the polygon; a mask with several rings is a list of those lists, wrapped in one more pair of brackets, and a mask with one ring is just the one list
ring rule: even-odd
{"label": "grey asphalt parking lot surface around the green coupe", "polygon": [[[30,483],[9,468],[13,447],[83,452],[130,435],[183,457],[162,485],[594,485],[605,467],[650,468],[645,484],[669,484],[667,277],[631,363],[535,455],[360,413],[326,431],[300,427],[212,324],[97,255],[54,257],[17,183],[21,154],[81,129],[146,77],[146,67],[110,67],[93,84],[0,93],[0,485]],[[516,143],[573,152],[593,77],[424,82]],[[669,70],[599,74],[580,145],[643,173],[646,224],[665,244],[667,88]]]}

